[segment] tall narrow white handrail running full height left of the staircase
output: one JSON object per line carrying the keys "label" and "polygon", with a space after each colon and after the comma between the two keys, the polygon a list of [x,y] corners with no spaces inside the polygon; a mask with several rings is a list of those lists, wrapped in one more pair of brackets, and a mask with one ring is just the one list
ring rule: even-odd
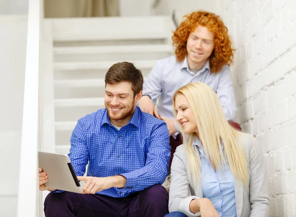
{"label": "tall narrow white handrail running full height left of the staircase", "polygon": [[38,211],[39,25],[40,0],[29,0],[17,217],[37,217]]}

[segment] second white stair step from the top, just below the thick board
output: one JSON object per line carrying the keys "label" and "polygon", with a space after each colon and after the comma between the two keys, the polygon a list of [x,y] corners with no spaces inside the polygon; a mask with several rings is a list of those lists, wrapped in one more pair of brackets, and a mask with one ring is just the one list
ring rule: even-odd
{"label": "second white stair step from the top, just below the thick board", "polygon": [[147,53],[172,52],[170,44],[110,45],[110,46],[74,46],[55,47],[55,55],[81,55],[106,53]]}

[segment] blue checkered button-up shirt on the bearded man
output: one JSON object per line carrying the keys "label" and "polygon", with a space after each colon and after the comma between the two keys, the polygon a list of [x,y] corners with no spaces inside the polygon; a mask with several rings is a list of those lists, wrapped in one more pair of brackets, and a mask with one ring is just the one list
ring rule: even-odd
{"label": "blue checkered button-up shirt on the bearded man", "polygon": [[136,107],[130,122],[117,130],[106,109],[78,120],[71,137],[70,160],[76,175],[123,175],[124,188],[106,189],[98,194],[125,197],[162,184],[170,158],[169,132],[165,122]]}

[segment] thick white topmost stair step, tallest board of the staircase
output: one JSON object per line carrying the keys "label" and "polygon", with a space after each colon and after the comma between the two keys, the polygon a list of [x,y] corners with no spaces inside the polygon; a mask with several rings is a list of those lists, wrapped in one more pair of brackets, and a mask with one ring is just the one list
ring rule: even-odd
{"label": "thick white topmost stair step, tallest board of the staircase", "polygon": [[50,20],[55,42],[167,39],[173,29],[170,16],[71,17]]}

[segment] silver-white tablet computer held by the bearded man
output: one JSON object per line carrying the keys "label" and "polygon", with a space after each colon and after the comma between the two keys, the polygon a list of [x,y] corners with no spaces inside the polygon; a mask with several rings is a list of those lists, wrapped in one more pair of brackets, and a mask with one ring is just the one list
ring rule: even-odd
{"label": "silver-white tablet computer held by the bearded man", "polygon": [[39,168],[48,176],[45,187],[82,193],[68,155],[38,152]]}

